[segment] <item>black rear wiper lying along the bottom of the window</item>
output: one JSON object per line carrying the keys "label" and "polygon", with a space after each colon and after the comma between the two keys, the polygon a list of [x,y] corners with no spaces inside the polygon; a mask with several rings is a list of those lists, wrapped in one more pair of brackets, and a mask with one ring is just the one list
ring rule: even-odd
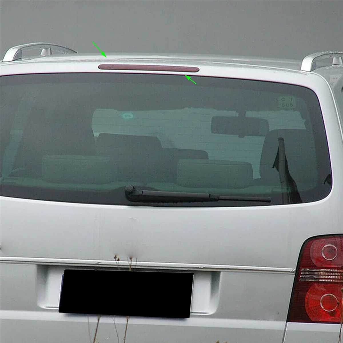
{"label": "black rear wiper lying along the bottom of the window", "polygon": [[210,193],[190,193],[190,192],[167,192],[137,189],[134,186],[126,186],[126,199],[134,202],[204,202],[204,201],[261,201],[271,202],[268,197],[240,197],[240,196],[226,196]]}

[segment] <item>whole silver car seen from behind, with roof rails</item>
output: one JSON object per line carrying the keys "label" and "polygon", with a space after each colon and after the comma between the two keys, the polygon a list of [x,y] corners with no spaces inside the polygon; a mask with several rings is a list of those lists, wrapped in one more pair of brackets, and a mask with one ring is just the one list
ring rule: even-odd
{"label": "whole silver car seen from behind, with roof rails", "polygon": [[9,49],[1,343],[339,342],[342,56]]}

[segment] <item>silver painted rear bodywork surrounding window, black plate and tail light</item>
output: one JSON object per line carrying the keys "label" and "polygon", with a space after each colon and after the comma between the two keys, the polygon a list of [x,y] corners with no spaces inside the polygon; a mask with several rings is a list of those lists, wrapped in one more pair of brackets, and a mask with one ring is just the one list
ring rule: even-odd
{"label": "silver painted rear bodywork surrounding window, black plate and tail light", "polygon": [[[58,313],[61,275],[67,268],[116,268],[115,255],[121,257],[119,265],[123,266],[132,257],[138,259],[135,268],[195,273],[191,318],[132,317],[128,342],[338,341],[338,324],[286,323],[302,244],[311,236],[343,233],[342,126],[323,77],[287,69],[290,63],[282,69],[257,67],[249,61],[242,66],[238,61],[205,63],[161,57],[157,63],[144,56],[121,58],[7,62],[1,63],[0,75],[142,73],[99,70],[98,65],[167,64],[198,66],[197,76],[310,88],[317,94],[323,114],[332,190],[326,198],[311,203],[227,208],[154,208],[1,197],[0,342],[89,341],[86,316]],[[114,292],[128,296],[122,285]],[[122,336],[126,318],[115,320]],[[96,316],[89,321],[94,329]],[[116,341],[111,317],[101,318],[98,337]]]}

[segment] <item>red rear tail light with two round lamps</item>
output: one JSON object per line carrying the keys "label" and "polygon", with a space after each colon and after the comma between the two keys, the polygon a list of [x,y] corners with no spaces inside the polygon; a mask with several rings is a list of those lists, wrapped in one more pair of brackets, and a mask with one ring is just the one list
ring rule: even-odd
{"label": "red rear tail light with two round lamps", "polygon": [[300,251],[289,322],[341,323],[343,235],[308,239]]}

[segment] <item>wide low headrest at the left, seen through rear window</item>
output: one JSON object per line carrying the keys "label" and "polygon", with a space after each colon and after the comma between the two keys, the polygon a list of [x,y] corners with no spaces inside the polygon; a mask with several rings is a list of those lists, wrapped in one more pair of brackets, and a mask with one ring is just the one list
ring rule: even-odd
{"label": "wide low headrest at the left, seen through rear window", "polygon": [[85,155],[46,155],[42,179],[73,184],[107,184],[115,180],[113,158]]}

